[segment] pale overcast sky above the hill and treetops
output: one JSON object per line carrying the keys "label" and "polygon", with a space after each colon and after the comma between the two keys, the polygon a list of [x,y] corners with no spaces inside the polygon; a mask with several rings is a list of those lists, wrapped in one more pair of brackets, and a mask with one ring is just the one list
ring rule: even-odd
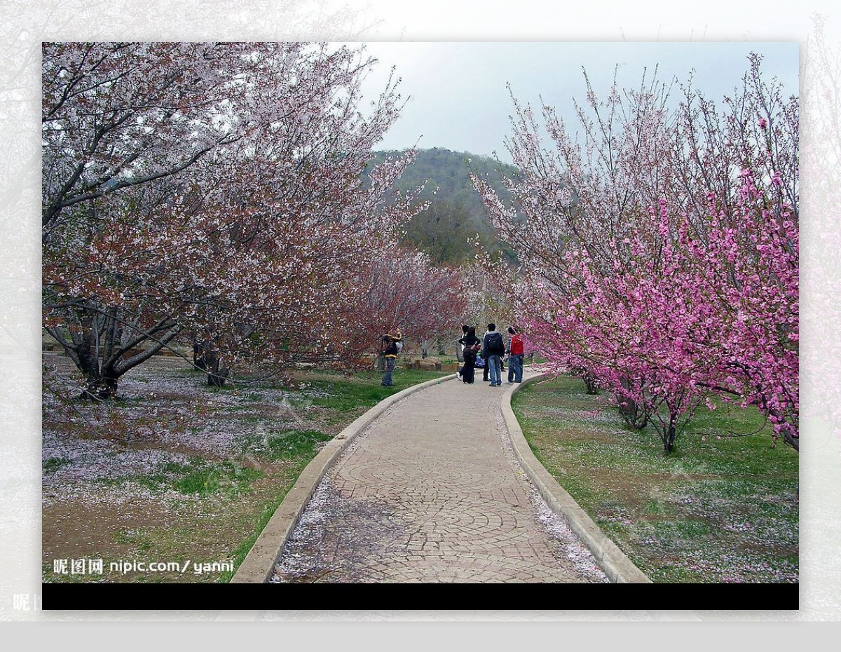
{"label": "pale overcast sky above the hill and treetops", "polygon": [[[787,94],[798,94],[798,45],[780,43],[536,43],[536,42],[370,42],[379,61],[366,88],[382,89],[391,66],[401,77],[401,92],[410,96],[401,118],[381,145],[401,150],[445,147],[510,161],[504,139],[509,133],[510,83],[521,102],[539,98],[573,119],[572,98],[584,98],[582,66],[599,96],[607,94],[619,65],[621,85],[638,87],[643,70],[658,68],[664,82],[694,85],[707,97],[733,92],[748,69],[748,54],[764,57],[767,77],[778,77]],[[675,86],[673,96],[679,89]]]}

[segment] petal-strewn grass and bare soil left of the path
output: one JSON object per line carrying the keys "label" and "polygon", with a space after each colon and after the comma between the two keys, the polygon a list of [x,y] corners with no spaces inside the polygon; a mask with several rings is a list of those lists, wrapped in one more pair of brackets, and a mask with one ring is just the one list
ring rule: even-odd
{"label": "petal-strewn grass and bare soil left of the path", "polygon": [[61,400],[74,373],[45,354],[45,582],[229,581],[325,442],[379,400],[447,375],[397,368],[383,387],[373,371],[301,372],[214,390],[183,360],[156,357],[97,405]]}

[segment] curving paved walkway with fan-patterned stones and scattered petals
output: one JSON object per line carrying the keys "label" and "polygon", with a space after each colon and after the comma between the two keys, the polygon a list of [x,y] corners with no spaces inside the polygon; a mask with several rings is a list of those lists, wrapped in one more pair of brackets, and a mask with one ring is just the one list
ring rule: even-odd
{"label": "curving paved walkway with fan-patterned stones and scattered petals", "polygon": [[433,385],[373,421],[325,475],[271,581],[607,581],[514,459],[509,385],[480,379]]}

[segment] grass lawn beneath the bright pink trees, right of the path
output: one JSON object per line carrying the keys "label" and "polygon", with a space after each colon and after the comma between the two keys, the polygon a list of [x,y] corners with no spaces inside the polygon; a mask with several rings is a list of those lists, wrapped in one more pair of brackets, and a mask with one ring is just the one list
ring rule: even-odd
{"label": "grass lawn beneath the bright pink trees, right of the path", "polygon": [[513,401],[537,459],[655,582],[796,582],[798,456],[753,410],[701,407],[665,457],[580,379]]}

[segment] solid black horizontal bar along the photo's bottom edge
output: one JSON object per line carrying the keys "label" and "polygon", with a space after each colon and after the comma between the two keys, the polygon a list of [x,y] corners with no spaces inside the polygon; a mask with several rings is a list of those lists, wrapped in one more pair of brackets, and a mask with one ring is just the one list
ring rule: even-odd
{"label": "solid black horizontal bar along the photo's bottom edge", "polygon": [[[180,609],[380,609],[417,596],[416,584],[56,584],[42,585],[45,610],[114,610],[122,604],[159,604],[167,596]],[[528,584],[427,584],[436,608],[467,609],[691,609],[791,610],[798,584],[558,584],[533,591]],[[424,596],[429,595],[427,592]],[[548,602],[547,602],[547,596]],[[130,602],[124,602],[130,601]],[[293,602],[288,602],[293,601]],[[171,602],[171,603],[172,603]]]}

